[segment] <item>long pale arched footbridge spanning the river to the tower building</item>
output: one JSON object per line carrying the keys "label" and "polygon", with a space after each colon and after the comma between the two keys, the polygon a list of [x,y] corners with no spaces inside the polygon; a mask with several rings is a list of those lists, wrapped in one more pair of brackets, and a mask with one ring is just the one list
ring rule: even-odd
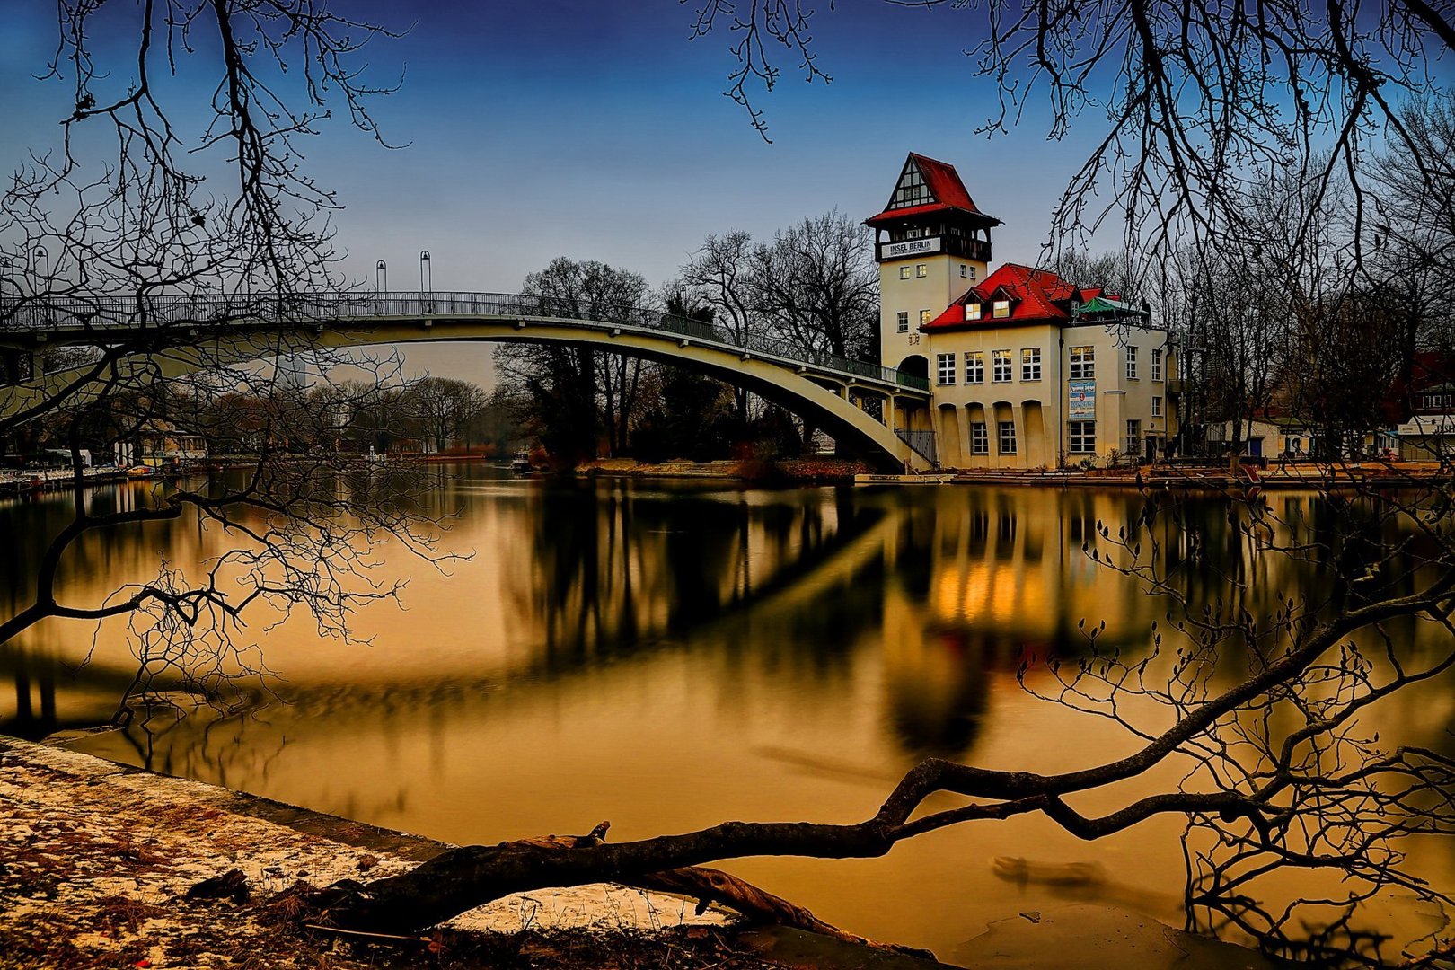
{"label": "long pale arched footbridge spanning the river to the tower building", "polygon": [[[736,384],[803,416],[883,467],[930,470],[933,454],[908,444],[896,410],[924,407],[930,382],[893,368],[781,342],[741,339],[723,327],[640,307],[579,305],[527,294],[336,292],[276,297],[164,297],[36,301],[10,307],[0,346],[135,346],[164,374],[310,349],[436,340],[565,343],[690,368]],[[64,375],[0,388],[13,414],[54,393]],[[883,401],[885,420],[854,403]]]}

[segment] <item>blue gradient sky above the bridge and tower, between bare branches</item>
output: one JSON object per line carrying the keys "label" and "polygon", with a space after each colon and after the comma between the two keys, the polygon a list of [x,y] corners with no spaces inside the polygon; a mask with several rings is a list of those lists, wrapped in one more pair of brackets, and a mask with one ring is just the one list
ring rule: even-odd
{"label": "blue gradient sky above the bridge and tower, between bare branches", "polygon": [[[370,285],[384,259],[391,288],[416,288],[422,249],[435,289],[515,291],[559,254],[661,284],[709,233],[767,239],[834,207],[877,212],[908,151],[953,163],[1004,220],[997,262],[1035,262],[1085,153],[1046,141],[1037,112],[1008,137],[975,134],[994,99],[965,55],[982,10],[822,9],[813,35],[834,80],[806,84],[781,58],[778,87],[758,95],[765,144],[723,96],[736,65],[726,25],[688,41],[691,0],[335,6],[391,28],[415,17],[364,58],[380,83],[403,71],[374,113],[407,147],[381,148],[336,122],[307,147],[311,172],[346,207],[335,217],[343,268]],[[15,167],[54,141],[70,92],[29,77],[54,49],[48,4],[0,0],[0,145]],[[102,52],[109,41],[97,38]]]}

